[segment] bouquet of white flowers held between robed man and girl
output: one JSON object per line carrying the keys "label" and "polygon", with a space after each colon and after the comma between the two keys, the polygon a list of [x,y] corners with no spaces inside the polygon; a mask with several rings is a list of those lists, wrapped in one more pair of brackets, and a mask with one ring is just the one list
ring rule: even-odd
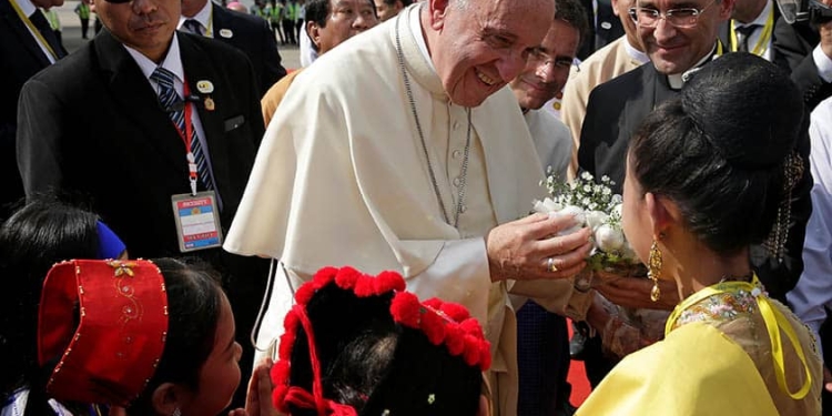
{"label": "bouquet of white flowers held between robed man and girl", "polygon": [[535,212],[575,215],[578,220],[574,229],[562,231],[561,235],[584,226],[592,230],[593,247],[587,260],[591,274],[601,280],[647,275],[621,230],[622,199],[612,193],[612,180],[601,176],[600,183],[596,183],[590,173],[584,172],[566,183],[547,170],[541,185],[546,186],[549,196],[534,201]]}

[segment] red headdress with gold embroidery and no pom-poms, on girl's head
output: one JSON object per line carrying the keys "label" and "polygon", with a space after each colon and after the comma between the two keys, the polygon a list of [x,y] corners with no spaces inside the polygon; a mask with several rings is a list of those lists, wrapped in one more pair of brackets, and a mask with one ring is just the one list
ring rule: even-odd
{"label": "red headdress with gold embroidery and no pom-poms, on girl's head", "polygon": [[59,400],[128,405],[153,376],[166,334],[168,295],[152,262],[63,262],[43,282],[38,358],[57,361],[47,392]]}

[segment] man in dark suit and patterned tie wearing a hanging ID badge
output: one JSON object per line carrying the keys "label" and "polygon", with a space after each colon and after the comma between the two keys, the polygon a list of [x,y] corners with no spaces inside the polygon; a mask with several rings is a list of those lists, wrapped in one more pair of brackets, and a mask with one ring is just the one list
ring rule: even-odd
{"label": "man in dark suit and patterned tie wearing a hanging ID badge", "polygon": [[252,65],[223,42],[177,32],[180,0],[91,7],[105,29],[21,91],[17,156],[27,197],[81,193],[131,256],[210,262],[235,313],[247,381],[245,341],[268,263],[221,244],[264,133]]}

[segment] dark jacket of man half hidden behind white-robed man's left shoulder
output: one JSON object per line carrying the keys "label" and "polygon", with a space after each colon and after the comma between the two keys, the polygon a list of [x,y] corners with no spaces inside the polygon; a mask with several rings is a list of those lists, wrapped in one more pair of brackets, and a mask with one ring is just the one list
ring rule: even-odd
{"label": "dark jacket of man half hidden behind white-robed man's left shoulder", "polygon": [[[281,65],[277,42],[268,23],[256,16],[240,13],[224,7],[212,4],[214,39],[219,39],[240,49],[248,57],[257,79],[260,97],[265,95],[272,85],[286,75]],[[231,37],[223,35],[223,30],[231,31]]]}

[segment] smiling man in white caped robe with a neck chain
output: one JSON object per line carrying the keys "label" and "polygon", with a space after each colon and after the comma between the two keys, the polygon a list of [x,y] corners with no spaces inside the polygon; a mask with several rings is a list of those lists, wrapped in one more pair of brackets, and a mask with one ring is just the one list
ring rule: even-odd
{"label": "smiling man in white caped robe with a neck chain", "polygon": [[554,13],[554,0],[419,2],[295,79],[225,242],[281,261],[261,348],[321,267],[394,270],[422,298],[460,303],[479,319],[495,414],[517,414],[507,293],[580,313],[567,277],[590,248],[589,230],[555,236],[574,217],[527,216],[545,196],[542,169],[505,88]]}

